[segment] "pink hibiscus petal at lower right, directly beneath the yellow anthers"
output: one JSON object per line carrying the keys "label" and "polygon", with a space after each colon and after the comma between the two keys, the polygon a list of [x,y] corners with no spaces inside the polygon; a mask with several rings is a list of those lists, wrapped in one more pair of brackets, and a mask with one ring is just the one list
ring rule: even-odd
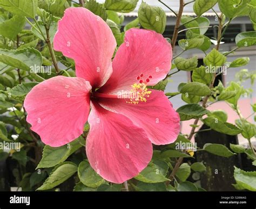
{"label": "pink hibiscus petal at lower right, directly beneath the yellow anthers", "polygon": [[[126,99],[129,101],[129,99]],[[144,129],[153,144],[170,144],[180,132],[179,114],[172,108],[164,92],[152,90],[146,102],[137,105],[126,103],[124,99],[100,99],[99,104],[129,119]]]}

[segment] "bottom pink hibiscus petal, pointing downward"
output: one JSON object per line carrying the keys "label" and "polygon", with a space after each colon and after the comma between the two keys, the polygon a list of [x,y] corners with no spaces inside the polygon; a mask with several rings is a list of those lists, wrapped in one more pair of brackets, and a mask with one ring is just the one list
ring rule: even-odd
{"label": "bottom pink hibiscus petal, pointing downward", "polygon": [[90,132],[86,155],[92,168],[104,179],[123,183],[137,176],[152,157],[152,144],[143,129],[125,116],[93,103],[88,119]]}

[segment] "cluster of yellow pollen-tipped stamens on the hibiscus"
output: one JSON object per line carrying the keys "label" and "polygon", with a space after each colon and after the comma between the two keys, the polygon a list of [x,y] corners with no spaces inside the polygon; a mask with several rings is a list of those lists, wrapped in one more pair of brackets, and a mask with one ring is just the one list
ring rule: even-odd
{"label": "cluster of yellow pollen-tipped stamens on the hibiscus", "polygon": [[134,83],[130,94],[132,95],[126,103],[137,105],[139,102],[146,102],[150,97],[151,90],[147,90],[146,83]]}

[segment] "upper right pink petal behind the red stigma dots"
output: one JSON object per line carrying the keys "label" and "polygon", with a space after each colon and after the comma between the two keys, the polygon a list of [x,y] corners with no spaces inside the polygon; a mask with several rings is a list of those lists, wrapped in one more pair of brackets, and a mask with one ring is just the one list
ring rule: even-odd
{"label": "upper right pink petal behind the red stigma dots", "polygon": [[113,73],[100,92],[117,94],[130,90],[143,74],[148,86],[163,80],[171,69],[172,47],[159,33],[151,30],[130,29],[125,33],[125,42],[119,47],[113,60]]}

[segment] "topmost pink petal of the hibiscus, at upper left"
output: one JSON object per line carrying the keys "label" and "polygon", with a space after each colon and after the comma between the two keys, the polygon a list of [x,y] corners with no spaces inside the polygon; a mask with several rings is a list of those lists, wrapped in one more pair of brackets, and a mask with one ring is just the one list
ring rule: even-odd
{"label": "topmost pink petal of the hibiscus, at upper left", "polygon": [[76,75],[93,88],[102,86],[112,73],[116,48],[113,33],[102,18],[85,8],[69,8],[58,22],[55,50],[76,62]]}

